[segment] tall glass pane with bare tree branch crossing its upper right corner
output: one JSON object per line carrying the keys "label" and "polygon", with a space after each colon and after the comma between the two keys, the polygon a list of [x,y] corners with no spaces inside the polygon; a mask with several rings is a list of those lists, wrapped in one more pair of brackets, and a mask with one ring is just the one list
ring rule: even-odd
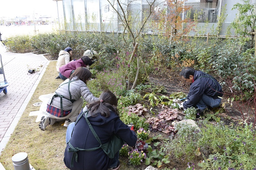
{"label": "tall glass pane with bare tree branch crossing its upper right corner", "polygon": [[[117,9],[117,4],[115,4]],[[107,0],[100,0],[101,31],[117,31],[117,13]]]}

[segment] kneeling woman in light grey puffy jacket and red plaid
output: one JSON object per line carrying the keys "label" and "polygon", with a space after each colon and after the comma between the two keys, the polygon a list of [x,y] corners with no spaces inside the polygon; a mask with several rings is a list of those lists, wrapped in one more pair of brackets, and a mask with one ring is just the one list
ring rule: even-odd
{"label": "kneeling woman in light grey puffy jacket and red plaid", "polygon": [[43,116],[39,123],[41,130],[45,130],[49,124],[53,125],[56,121],[63,120],[66,120],[64,126],[68,127],[71,122],[75,122],[83,106],[83,99],[88,103],[99,100],[86,86],[86,81],[91,75],[89,69],[79,67],[69,79],[60,84],[54,96],[48,101],[46,109],[48,115]]}

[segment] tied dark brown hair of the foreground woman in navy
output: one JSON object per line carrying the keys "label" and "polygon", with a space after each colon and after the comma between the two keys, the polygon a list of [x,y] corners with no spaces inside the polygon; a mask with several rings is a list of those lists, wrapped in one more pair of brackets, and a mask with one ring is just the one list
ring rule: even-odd
{"label": "tied dark brown hair of the foreground woman in navy", "polygon": [[103,91],[100,94],[99,101],[90,103],[87,108],[92,117],[96,117],[97,113],[100,112],[102,116],[107,118],[110,116],[109,109],[117,115],[119,114],[117,109],[117,97],[109,90]]}

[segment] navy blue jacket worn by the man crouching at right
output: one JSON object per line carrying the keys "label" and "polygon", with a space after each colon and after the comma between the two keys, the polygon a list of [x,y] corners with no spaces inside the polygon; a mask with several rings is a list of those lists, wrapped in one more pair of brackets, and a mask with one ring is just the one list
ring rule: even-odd
{"label": "navy blue jacket worn by the man crouching at right", "polygon": [[195,106],[202,99],[203,94],[213,99],[223,96],[222,88],[216,79],[205,72],[195,71],[194,82],[190,84],[189,94],[187,96],[188,101],[183,102],[184,109]]}

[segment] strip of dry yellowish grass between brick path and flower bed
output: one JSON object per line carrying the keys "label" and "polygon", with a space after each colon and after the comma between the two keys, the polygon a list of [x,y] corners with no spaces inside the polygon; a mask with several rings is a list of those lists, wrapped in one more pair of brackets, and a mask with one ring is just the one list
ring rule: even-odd
{"label": "strip of dry yellowish grass between brick path and flower bed", "polygon": [[[17,127],[12,133],[6,148],[1,152],[0,162],[6,170],[13,169],[12,156],[19,152],[28,154],[29,163],[36,170],[65,170],[63,158],[66,127],[63,122],[56,122],[48,126],[46,131],[38,128],[39,122],[35,122],[36,116],[28,116],[31,111],[39,110],[33,103],[41,102],[38,97],[42,94],[53,93],[63,80],[55,79],[56,61],[51,61],[40,80],[37,89],[30,99]],[[95,89],[91,90],[92,92]],[[138,167],[129,166],[127,160],[120,160],[120,170],[137,170]],[[145,169],[145,168],[144,168]]]}

